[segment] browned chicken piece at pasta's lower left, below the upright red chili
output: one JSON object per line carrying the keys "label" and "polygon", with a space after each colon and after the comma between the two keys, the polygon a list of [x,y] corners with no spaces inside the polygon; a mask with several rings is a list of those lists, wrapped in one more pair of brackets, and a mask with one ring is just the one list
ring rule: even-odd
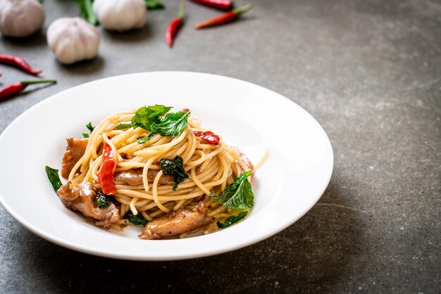
{"label": "browned chicken piece at pasta's lower left, below the upright red chili", "polygon": [[61,202],[70,210],[78,210],[86,217],[93,217],[98,221],[97,226],[110,229],[111,224],[120,220],[118,207],[113,203],[106,208],[98,208],[94,199],[97,194],[92,190],[92,183],[74,184],[70,183],[61,186],[56,191]]}

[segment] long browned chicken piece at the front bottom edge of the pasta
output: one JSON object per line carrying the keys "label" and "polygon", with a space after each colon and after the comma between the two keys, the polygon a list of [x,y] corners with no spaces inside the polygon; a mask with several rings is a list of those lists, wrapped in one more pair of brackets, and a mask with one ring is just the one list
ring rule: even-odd
{"label": "long browned chicken piece at the front bottom edge of the pasta", "polygon": [[206,212],[207,208],[203,202],[199,202],[194,210],[177,210],[149,222],[147,226],[144,226],[139,238],[157,240],[208,226],[216,219],[206,215]]}

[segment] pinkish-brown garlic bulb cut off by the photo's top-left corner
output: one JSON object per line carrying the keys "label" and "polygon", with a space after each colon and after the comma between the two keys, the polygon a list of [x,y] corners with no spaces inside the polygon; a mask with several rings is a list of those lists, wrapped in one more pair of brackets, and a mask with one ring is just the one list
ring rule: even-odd
{"label": "pinkish-brown garlic bulb cut off by the photo's top-left corner", "polygon": [[9,37],[27,37],[44,23],[44,9],[37,0],[0,0],[0,31]]}

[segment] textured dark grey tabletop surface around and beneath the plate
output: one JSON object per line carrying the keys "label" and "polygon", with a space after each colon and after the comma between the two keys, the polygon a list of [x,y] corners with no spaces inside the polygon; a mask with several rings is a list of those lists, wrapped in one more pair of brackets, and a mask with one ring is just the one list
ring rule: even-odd
{"label": "textured dark grey tabletop surface around and beneath the plate", "polygon": [[[0,132],[44,98],[101,77],[156,70],[237,77],[292,99],[328,133],[335,170],[319,203],[266,241],[178,262],[77,253],[31,234],[0,207],[0,292],[441,292],[441,2],[254,3],[242,21],[202,32],[192,24],[217,12],[188,3],[188,25],[169,50],[164,32],[178,2],[166,1],[143,30],[101,30],[99,58],[63,66],[44,32],[77,8],[45,0],[42,33],[3,37],[0,51],[59,83],[1,101]],[[29,78],[3,65],[0,72],[4,84]]]}

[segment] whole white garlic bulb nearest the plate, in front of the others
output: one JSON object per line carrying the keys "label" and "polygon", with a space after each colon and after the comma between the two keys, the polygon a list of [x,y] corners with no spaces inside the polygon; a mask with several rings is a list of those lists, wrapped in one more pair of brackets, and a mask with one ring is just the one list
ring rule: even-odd
{"label": "whole white garlic bulb nearest the plate, in front of the others", "polygon": [[82,18],[59,18],[49,25],[47,43],[61,63],[70,64],[97,56],[99,33]]}

